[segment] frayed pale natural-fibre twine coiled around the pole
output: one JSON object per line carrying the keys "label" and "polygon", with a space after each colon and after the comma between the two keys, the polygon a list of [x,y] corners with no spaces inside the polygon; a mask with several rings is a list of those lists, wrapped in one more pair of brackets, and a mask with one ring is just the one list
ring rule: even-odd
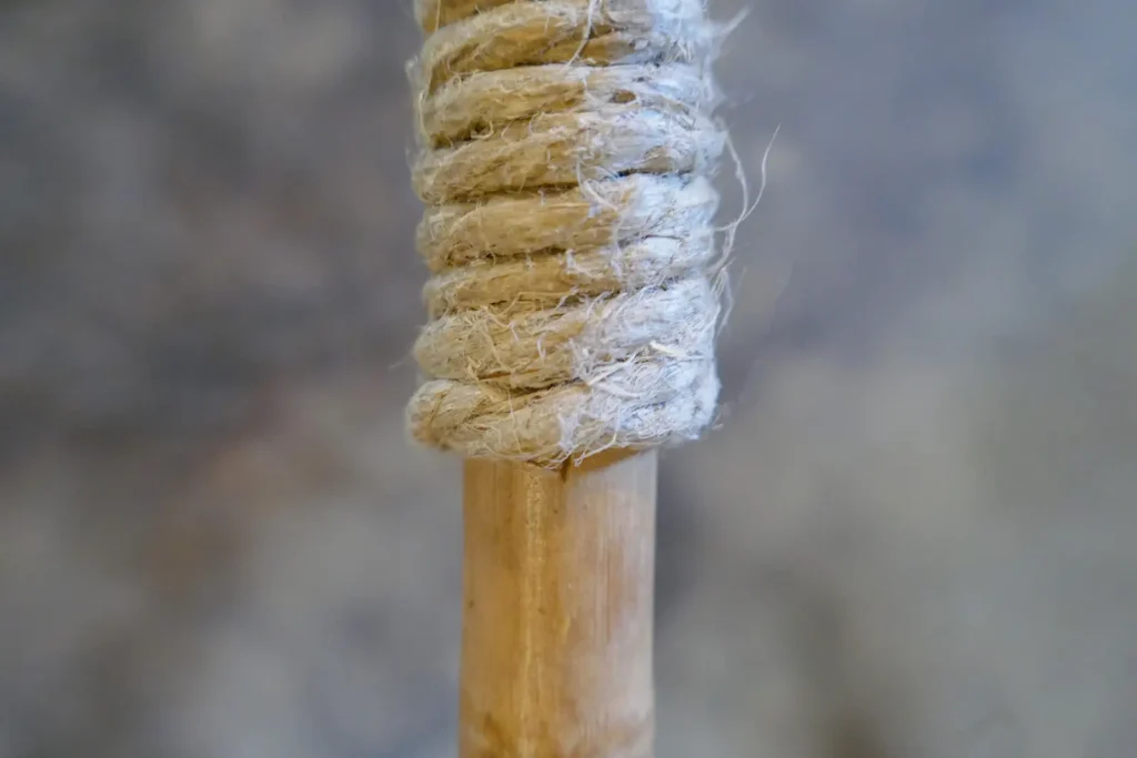
{"label": "frayed pale natural-fibre twine coiled around the pole", "polygon": [[702,0],[418,0],[433,273],[415,439],[557,465],[697,436],[719,393]]}

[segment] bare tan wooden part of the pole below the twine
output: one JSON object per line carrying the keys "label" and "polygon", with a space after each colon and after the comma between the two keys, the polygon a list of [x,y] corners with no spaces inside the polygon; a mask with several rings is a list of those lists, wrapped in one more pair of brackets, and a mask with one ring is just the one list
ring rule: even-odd
{"label": "bare tan wooden part of the pole below the twine", "polygon": [[465,464],[460,758],[649,758],[657,455]]}

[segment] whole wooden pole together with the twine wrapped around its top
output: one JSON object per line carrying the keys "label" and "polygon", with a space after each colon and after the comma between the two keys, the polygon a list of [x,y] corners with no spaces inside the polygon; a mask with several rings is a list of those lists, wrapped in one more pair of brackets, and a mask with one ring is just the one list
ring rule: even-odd
{"label": "whole wooden pole together with the twine wrapped around its top", "polygon": [[650,758],[657,453],[516,461],[713,418],[716,31],[702,0],[416,14],[431,380],[407,417],[468,458],[459,755]]}

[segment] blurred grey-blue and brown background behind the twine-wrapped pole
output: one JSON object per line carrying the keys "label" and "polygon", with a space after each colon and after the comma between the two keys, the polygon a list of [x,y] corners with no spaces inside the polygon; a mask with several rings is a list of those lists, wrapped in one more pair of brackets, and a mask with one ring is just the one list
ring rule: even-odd
{"label": "blurred grey-blue and brown background behind the twine-wrapped pole", "polygon": [[[658,755],[1134,755],[1137,6],[746,5],[752,184],[780,133],[723,423],[665,453]],[[454,755],[418,44],[0,2],[0,757]]]}

